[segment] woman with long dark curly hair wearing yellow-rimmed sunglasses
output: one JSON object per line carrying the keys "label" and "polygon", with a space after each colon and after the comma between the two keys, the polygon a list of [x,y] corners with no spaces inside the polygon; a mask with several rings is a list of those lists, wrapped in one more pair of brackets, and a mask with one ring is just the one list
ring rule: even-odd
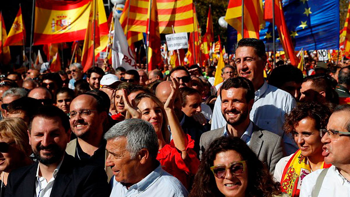
{"label": "woman with long dark curly hair wearing yellow-rimmed sunglasses", "polygon": [[281,196],[281,191],[279,183],[273,181],[266,166],[244,141],[223,136],[202,155],[190,196],[275,197]]}

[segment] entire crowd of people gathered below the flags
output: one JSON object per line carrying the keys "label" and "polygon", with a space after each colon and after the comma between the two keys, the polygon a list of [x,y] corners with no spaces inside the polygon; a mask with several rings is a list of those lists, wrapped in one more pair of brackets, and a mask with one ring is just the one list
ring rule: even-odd
{"label": "entire crowd of people gathered below the flags", "polygon": [[349,60],[216,63],[1,69],[0,197],[350,196]]}

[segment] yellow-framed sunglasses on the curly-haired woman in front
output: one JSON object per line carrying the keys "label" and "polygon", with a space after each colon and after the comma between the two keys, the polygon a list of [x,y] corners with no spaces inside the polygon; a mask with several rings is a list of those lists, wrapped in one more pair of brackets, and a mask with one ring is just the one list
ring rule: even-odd
{"label": "yellow-framed sunglasses on the curly-haired woman in front", "polygon": [[[243,174],[246,168],[246,161],[232,162],[229,164],[231,174],[240,175]],[[226,166],[212,166],[210,170],[217,178],[225,178],[227,167]]]}

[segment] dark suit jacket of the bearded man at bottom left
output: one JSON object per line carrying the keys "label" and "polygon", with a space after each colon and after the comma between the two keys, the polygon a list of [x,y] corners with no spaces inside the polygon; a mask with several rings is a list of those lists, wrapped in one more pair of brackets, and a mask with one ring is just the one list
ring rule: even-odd
{"label": "dark suit jacket of the bearded man at bottom left", "polygon": [[[10,172],[5,196],[33,197],[38,162]],[[74,157],[65,154],[58,170],[50,197],[109,197],[110,186],[106,172],[92,165],[81,165]]]}

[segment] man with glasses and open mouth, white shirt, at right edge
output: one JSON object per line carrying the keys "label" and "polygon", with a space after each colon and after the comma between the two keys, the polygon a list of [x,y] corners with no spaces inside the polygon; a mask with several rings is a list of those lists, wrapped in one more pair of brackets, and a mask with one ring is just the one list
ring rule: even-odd
{"label": "man with glasses and open mouth, white shirt, at right edge", "polygon": [[350,105],[337,106],[321,130],[324,162],[332,166],[307,175],[300,197],[349,196],[350,193]]}

